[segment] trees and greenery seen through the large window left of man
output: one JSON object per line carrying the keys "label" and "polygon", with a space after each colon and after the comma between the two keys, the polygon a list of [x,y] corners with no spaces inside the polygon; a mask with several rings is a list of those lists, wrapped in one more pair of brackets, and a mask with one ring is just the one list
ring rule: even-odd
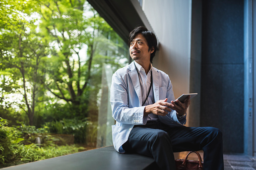
{"label": "trees and greenery seen through the large window left of man", "polygon": [[[26,126],[94,146],[103,66],[115,71],[127,56],[125,43],[84,0],[0,0],[0,117],[8,121],[0,139],[11,135],[17,144],[29,132],[15,136],[7,128]],[[2,146],[0,161],[11,161]]]}

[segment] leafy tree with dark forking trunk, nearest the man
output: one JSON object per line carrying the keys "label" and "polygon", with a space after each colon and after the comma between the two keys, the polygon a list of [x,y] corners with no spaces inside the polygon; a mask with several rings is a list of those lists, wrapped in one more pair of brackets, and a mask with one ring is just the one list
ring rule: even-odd
{"label": "leafy tree with dark forking trunk, nearest the man", "polygon": [[[97,50],[101,48],[98,45],[103,39],[107,40],[104,35],[113,30],[85,1],[44,1],[40,15],[40,28],[55,45],[51,48],[46,68],[44,82],[47,89],[75,106],[89,102],[85,95],[88,98],[88,90],[93,88],[91,80],[95,77],[101,80],[97,66],[107,61],[102,55],[101,60],[96,60]],[[82,54],[85,47],[87,54]]]}

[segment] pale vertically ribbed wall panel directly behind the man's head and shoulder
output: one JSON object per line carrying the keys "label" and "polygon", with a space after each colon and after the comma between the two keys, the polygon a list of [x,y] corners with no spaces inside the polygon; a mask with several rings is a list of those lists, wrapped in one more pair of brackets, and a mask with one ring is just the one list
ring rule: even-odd
{"label": "pale vertically ribbed wall panel directly behind the man's head and shoulder", "polygon": [[[147,0],[143,1],[142,9],[159,41],[159,51],[153,60],[153,66],[169,75],[175,98],[183,93],[199,92],[190,91],[189,82],[191,1],[164,0],[159,3],[157,0]],[[194,120],[193,125],[199,125],[199,112],[197,110],[195,113],[197,120]],[[187,114],[186,125],[189,125],[191,114]]]}

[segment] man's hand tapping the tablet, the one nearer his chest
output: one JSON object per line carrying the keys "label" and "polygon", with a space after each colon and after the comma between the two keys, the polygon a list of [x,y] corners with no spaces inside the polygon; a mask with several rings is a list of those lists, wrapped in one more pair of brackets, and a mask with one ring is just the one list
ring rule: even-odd
{"label": "man's hand tapping the tablet, the one nearer his chest", "polygon": [[166,98],[164,100],[159,100],[154,104],[145,106],[144,116],[150,113],[153,113],[159,116],[165,116],[166,114],[168,114],[168,112],[171,111],[169,107],[171,107],[173,104],[168,103],[167,100],[168,99]]}

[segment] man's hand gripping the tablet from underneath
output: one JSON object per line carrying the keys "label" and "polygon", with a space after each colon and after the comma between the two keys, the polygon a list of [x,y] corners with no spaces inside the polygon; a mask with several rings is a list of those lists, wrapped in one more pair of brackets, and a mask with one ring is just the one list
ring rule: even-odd
{"label": "man's hand gripping the tablet from underneath", "polygon": [[190,104],[190,96],[188,96],[184,103],[181,103],[179,100],[171,101],[170,108],[176,110],[179,116],[182,116],[186,113],[186,110]]}

